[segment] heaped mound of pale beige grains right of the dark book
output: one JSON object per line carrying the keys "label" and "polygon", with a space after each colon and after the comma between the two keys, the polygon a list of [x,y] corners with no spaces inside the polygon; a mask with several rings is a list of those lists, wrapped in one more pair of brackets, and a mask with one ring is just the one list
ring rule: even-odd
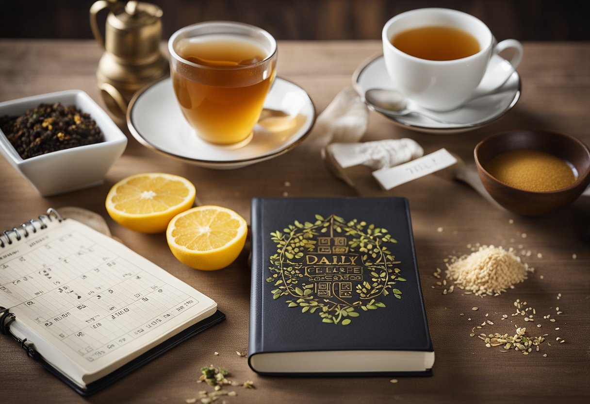
{"label": "heaped mound of pale beige grains right of the dark book", "polygon": [[497,296],[524,281],[533,272],[526,263],[514,255],[513,250],[502,247],[481,246],[470,255],[451,257],[447,263],[447,279],[454,281],[465,294]]}

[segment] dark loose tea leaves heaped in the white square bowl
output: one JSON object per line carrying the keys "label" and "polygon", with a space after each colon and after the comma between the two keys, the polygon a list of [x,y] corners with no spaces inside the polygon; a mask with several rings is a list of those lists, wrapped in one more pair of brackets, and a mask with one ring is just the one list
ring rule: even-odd
{"label": "dark loose tea leaves heaped in the white square bowl", "polygon": [[21,116],[2,116],[0,129],[23,159],[104,141],[89,114],[60,102],[41,104]]}

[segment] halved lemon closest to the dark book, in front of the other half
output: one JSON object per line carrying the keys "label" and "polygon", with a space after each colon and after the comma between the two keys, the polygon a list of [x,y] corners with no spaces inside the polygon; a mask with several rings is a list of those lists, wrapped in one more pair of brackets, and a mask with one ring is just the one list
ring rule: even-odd
{"label": "halved lemon closest to the dark book, in front of the other half", "polygon": [[172,254],[195,269],[214,271],[230,265],[244,248],[248,225],[233,210],[199,206],[179,213],[168,224]]}

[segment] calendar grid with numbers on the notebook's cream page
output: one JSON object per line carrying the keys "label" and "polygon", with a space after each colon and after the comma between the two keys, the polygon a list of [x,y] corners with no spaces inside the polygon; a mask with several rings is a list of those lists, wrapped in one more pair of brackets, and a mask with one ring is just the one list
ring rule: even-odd
{"label": "calendar grid with numbers on the notebook's cream page", "polygon": [[76,232],[19,258],[0,265],[6,267],[0,271],[0,294],[12,296],[23,315],[89,362],[133,341],[147,341],[156,328],[186,316],[198,303],[158,272],[139,268]]}

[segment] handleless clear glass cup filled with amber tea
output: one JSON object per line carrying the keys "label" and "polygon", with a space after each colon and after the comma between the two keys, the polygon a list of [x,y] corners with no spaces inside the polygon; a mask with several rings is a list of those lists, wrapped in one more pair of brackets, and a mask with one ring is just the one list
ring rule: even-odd
{"label": "handleless clear glass cup filled with amber tea", "polygon": [[188,123],[212,144],[248,144],[276,76],[277,43],[253,25],[211,21],[168,41],[172,85]]}

